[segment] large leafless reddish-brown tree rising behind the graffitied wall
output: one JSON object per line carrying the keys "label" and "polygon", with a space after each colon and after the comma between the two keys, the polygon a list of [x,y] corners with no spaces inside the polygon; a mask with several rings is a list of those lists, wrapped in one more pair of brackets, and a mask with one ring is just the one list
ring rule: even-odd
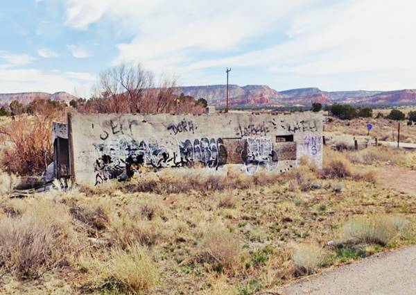
{"label": "large leafless reddish-brown tree rising behind the graffitied wall", "polygon": [[94,90],[95,95],[81,112],[124,112],[124,113],[184,113],[202,112],[202,106],[195,100],[177,99],[174,78],[163,77],[159,86],[155,86],[153,74],[145,71],[141,65],[129,67],[125,64],[101,72],[100,80]]}

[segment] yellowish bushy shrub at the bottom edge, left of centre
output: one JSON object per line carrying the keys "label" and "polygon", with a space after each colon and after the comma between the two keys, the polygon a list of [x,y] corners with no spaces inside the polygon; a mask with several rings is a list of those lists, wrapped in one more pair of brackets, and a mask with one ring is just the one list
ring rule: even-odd
{"label": "yellowish bushy shrub at the bottom edge, left of centre", "polygon": [[112,250],[110,260],[99,271],[99,287],[132,294],[148,292],[159,277],[150,253],[138,244]]}

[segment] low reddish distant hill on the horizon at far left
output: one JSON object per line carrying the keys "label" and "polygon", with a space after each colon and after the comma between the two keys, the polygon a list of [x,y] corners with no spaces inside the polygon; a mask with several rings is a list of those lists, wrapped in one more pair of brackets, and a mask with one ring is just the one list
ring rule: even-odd
{"label": "low reddish distant hill on the horizon at far left", "polygon": [[0,106],[8,106],[12,101],[20,101],[27,104],[33,99],[51,99],[53,101],[71,101],[76,99],[76,96],[67,92],[55,92],[53,94],[46,92],[21,92],[21,93],[7,93],[0,94]]}

